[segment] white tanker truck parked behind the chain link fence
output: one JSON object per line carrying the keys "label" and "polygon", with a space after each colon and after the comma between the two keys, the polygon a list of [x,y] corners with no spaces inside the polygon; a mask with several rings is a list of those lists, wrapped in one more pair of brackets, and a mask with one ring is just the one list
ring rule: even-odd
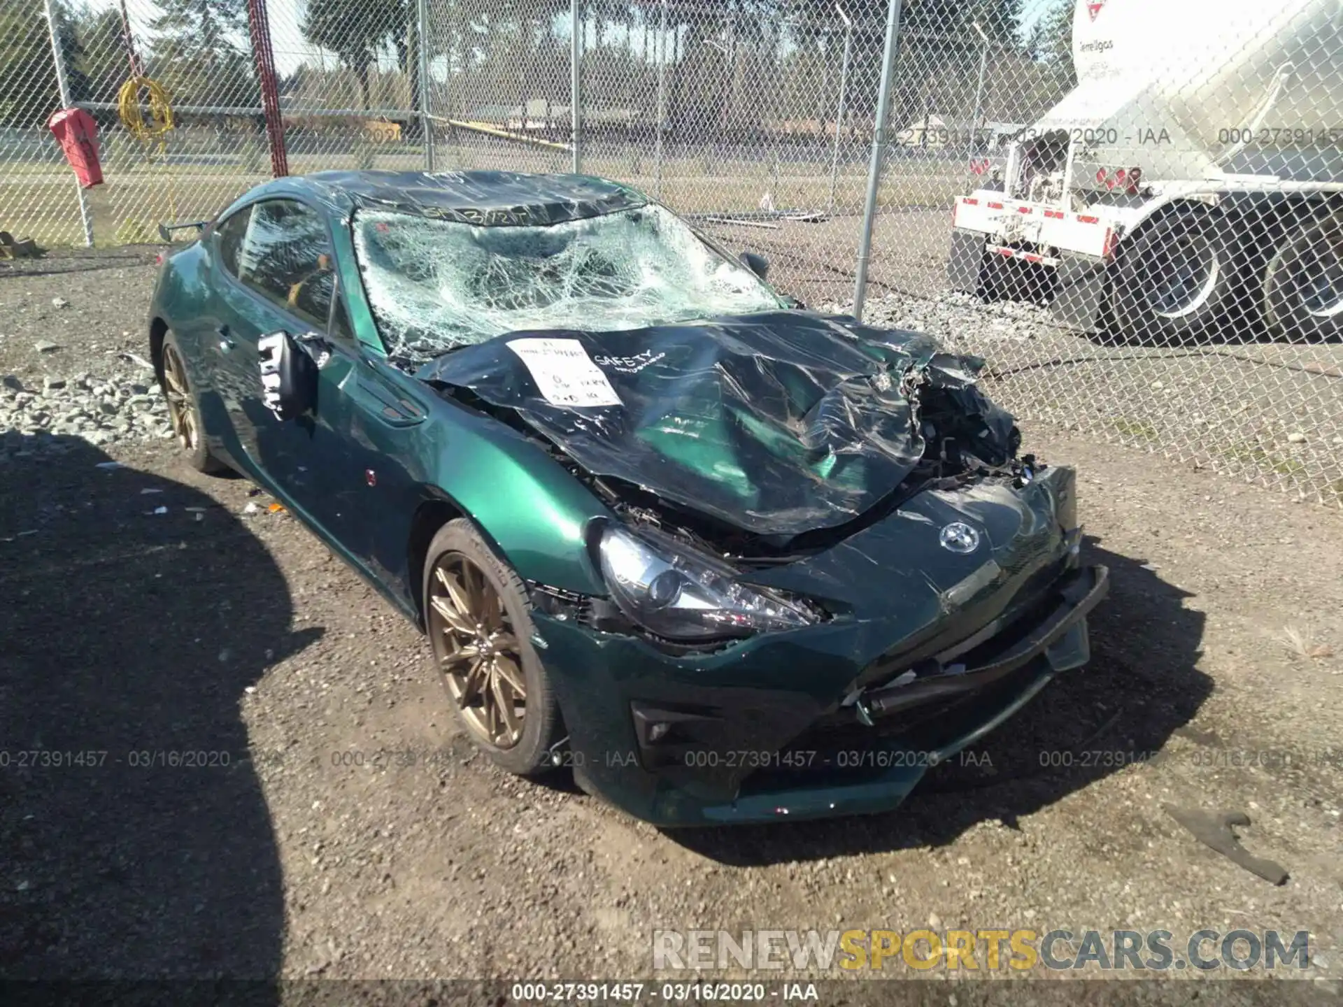
{"label": "white tanker truck parked behind the chain link fence", "polygon": [[1343,337],[1343,0],[1077,0],[1073,60],[956,201],[952,287],[1138,340]]}

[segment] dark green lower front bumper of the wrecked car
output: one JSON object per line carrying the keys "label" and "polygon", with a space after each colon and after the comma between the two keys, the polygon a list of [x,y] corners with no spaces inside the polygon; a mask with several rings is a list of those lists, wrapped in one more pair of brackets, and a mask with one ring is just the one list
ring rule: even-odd
{"label": "dark green lower front bumper of the wrecked car", "polygon": [[[744,644],[747,657],[710,655],[701,661],[713,662],[708,669],[686,673],[684,661],[661,658],[655,665],[659,658],[635,640],[592,634],[544,615],[537,619],[549,640],[548,658],[563,661],[565,669],[556,675],[557,694],[571,734],[571,764],[583,789],[658,827],[747,824],[897,807],[929,768],[994,730],[1054,675],[1086,663],[1085,616],[1107,587],[1103,568],[1065,575],[1054,584],[1054,600],[1041,599],[1042,610],[1011,622],[999,646],[988,640],[959,655],[976,675],[984,675],[974,693],[950,701],[933,697],[928,705],[940,709],[923,716],[913,710],[908,728],[893,724],[902,717],[898,713],[868,728],[853,708],[834,706],[829,697],[861,670],[839,657],[847,647],[839,627],[808,634],[806,647],[790,644],[787,634],[763,638]],[[818,646],[818,638],[831,646]],[[752,646],[760,653],[752,654]],[[747,661],[764,685],[740,677]],[[739,677],[724,681],[733,674]],[[794,689],[782,687],[788,675]],[[945,678],[962,683],[967,675]],[[807,683],[818,687],[810,694],[796,690]],[[739,733],[706,741],[692,753],[709,761],[651,769],[631,716],[645,704],[693,708],[709,720],[736,725]],[[837,721],[837,714],[847,720]],[[791,761],[799,751],[810,751],[810,761]],[[729,767],[745,764],[721,759],[741,752],[761,761],[751,761],[753,768],[736,776]],[[864,761],[854,763],[854,753]],[[720,761],[712,760],[716,755]],[[694,768],[700,765],[708,768]]]}

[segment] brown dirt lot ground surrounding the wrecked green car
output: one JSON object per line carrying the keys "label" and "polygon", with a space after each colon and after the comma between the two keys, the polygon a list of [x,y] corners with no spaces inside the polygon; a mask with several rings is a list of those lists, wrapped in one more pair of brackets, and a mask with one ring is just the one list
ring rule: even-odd
{"label": "brown dirt lot ground surrounding the wrecked green car", "polygon": [[[0,271],[0,376],[136,373],[115,350],[145,352],[152,267],[121,256]],[[414,627],[246,481],[197,475],[161,439],[15,434],[0,975],[642,977],[654,929],[1163,928],[1180,948],[1245,928],[1309,930],[1291,992],[1336,1002],[1343,513],[1026,435],[1078,467],[1086,559],[1113,575],[1091,666],[896,814],[659,832],[474,756]],[[1288,881],[1199,845],[1164,803],[1245,812],[1244,845]],[[1151,1002],[1284,996],[1228,975]]]}

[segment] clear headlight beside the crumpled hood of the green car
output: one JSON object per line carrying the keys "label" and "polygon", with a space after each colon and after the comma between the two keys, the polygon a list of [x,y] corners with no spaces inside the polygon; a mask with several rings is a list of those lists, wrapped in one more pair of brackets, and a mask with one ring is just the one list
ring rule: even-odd
{"label": "clear headlight beside the crumpled hood of the green car", "polygon": [[602,573],[624,615],[674,640],[749,636],[817,622],[804,604],[739,584],[736,571],[655,533],[602,532]]}

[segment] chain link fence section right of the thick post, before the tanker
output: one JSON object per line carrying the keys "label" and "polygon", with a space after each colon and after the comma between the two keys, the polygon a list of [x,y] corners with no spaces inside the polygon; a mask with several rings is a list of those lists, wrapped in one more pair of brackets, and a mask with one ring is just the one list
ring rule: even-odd
{"label": "chain link fence section right of the thick post, before the tanker", "polygon": [[911,8],[886,183],[913,145],[950,192],[881,216],[885,320],[986,356],[1018,415],[1343,501],[1338,4],[983,13]]}

